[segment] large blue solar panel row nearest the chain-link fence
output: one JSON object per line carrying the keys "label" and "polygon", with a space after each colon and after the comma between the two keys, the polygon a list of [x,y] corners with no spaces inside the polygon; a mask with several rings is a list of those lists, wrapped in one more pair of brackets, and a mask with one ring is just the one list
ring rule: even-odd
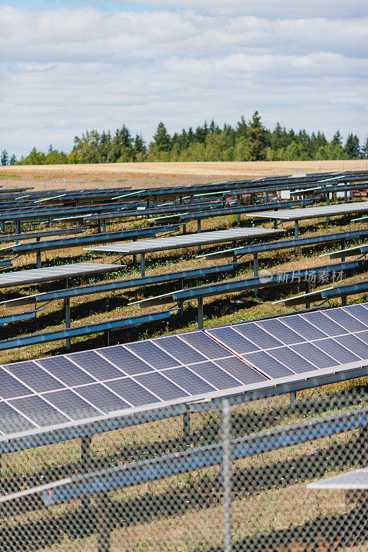
{"label": "large blue solar panel row nearest the chain-link fence", "polygon": [[190,401],[361,359],[368,359],[368,304],[6,364],[0,433],[6,438],[124,408]]}

